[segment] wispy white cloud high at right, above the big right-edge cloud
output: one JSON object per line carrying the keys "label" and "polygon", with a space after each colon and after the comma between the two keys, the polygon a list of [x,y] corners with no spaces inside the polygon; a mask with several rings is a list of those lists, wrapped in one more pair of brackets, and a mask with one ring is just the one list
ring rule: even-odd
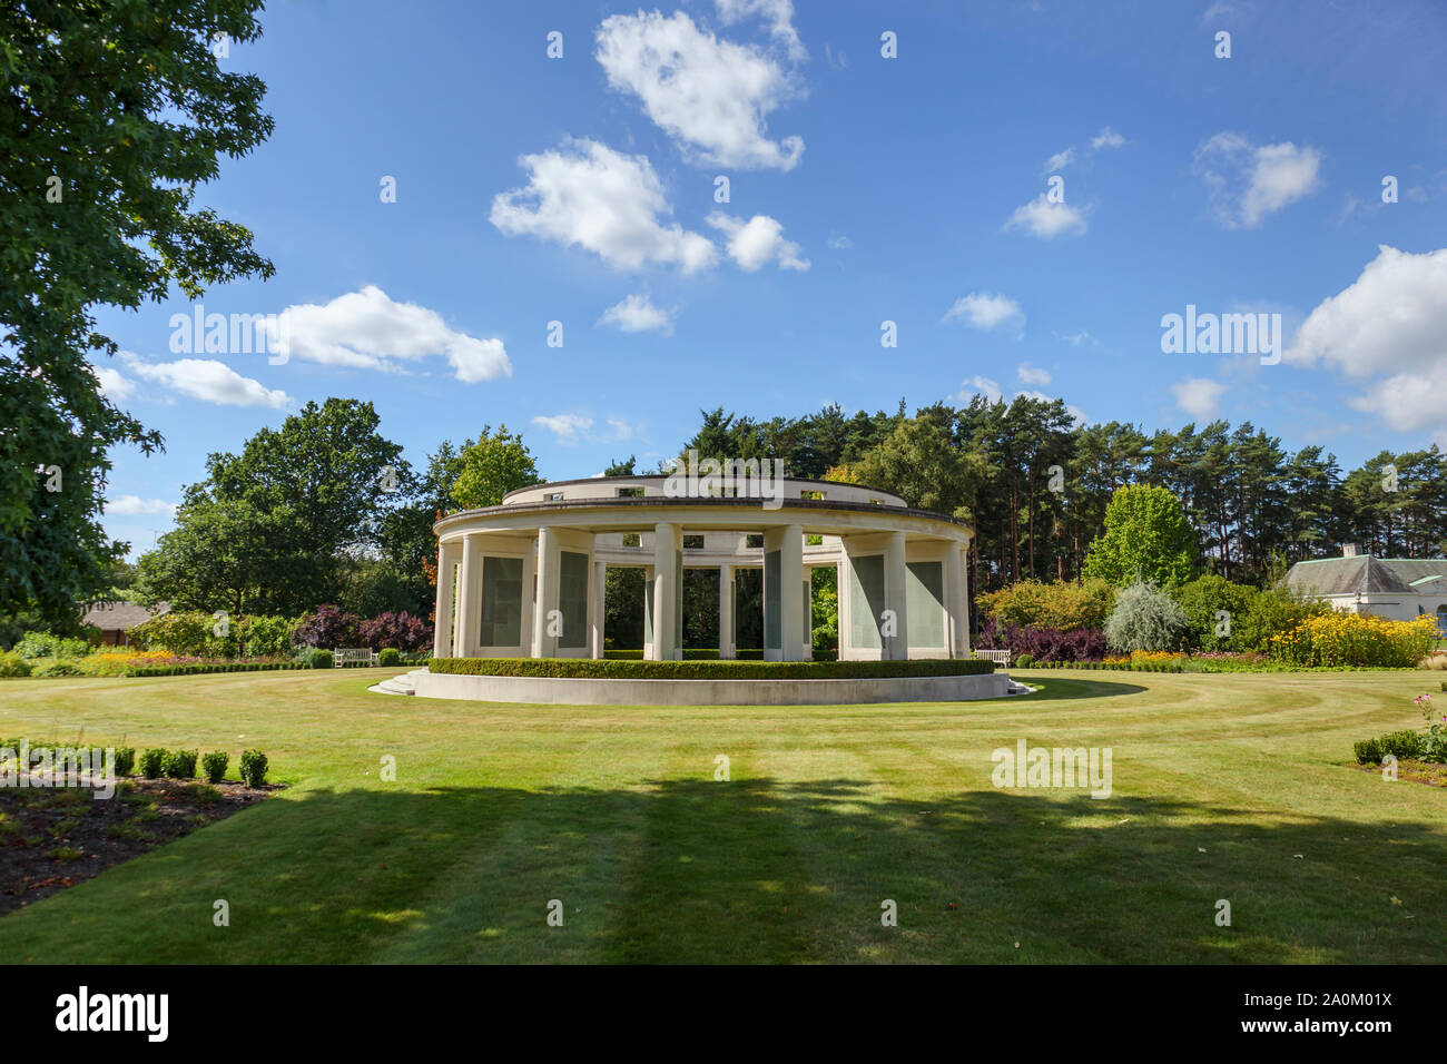
{"label": "wispy white cloud high at right, above the big right-edge cloud", "polygon": [[1240,133],[1217,133],[1201,143],[1195,169],[1227,229],[1255,229],[1321,187],[1321,152],[1311,145],[1255,145]]}

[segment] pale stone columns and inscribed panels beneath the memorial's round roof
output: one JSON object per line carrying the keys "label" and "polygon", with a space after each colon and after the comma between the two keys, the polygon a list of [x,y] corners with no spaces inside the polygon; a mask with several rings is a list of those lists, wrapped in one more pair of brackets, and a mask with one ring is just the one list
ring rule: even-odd
{"label": "pale stone columns and inscribed panels beneath the memorial's round roof", "polygon": [[[763,550],[719,563],[719,657],[735,657],[734,576],[764,575],[764,657],[812,657],[809,575],[839,575],[839,657],[968,657],[965,541],[904,531],[826,536],[806,552],[803,524],[763,531]],[[462,531],[440,543],[437,657],[603,657],[609,565],[642,567],[644,656],[683,657],[684,525],[653,525],[645,550],[605,547],[602,533],[543,524],[535,530]],[[816,539],[819,539],[816,536]],[[456,614],[454,614],[456,605]]]}

